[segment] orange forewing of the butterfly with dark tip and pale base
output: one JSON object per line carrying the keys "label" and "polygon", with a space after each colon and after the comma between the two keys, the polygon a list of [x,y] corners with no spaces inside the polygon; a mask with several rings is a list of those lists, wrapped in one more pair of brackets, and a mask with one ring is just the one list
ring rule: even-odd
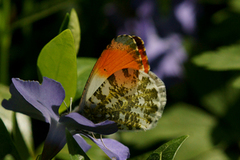
{"label": "orange forewing of the butterfly with dark tip and pale base", "polygon": [[92,96],[108,77],[124,68],[142,71],[149,68],[143,41],[139,37],[134,36],[133,38],[129,35],[120,35],[113,39],[111,44],[102,52],[85,86],[80,102],[80,110],[83,109],[85,101]]}

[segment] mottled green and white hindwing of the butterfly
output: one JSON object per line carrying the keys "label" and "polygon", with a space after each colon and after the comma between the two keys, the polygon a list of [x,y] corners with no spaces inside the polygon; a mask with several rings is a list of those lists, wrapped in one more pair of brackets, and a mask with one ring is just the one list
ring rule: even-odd
{"label": "mottled green and white hindwing of the butterfly", "polygon": [[152,72],[122,69],[112,74],[86,101],[84,115],[95,123],[115,121],[120,130],[148,130],[162,116],[164,83]]}

